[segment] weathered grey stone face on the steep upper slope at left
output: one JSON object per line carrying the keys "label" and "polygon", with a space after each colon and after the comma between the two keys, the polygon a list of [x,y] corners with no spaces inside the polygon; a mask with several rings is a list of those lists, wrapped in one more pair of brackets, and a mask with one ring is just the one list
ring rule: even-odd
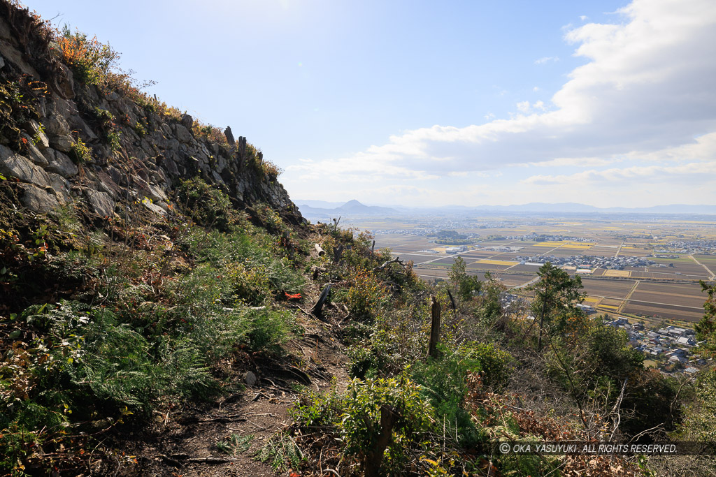
{"label": "weathered grey stone face on the steep upper slope at left", "polygon": [[[160,115],[155,103],[81,84],[57,57],[31,17],[0,0],[0,85],[22,78],[47,85],[21,105],[29,113],[9,114],[14,129],[0,129],[0,174],[19,181],[24,207],[46,212],[84,200],[106,216],[120,202],[138,200],[163,213],[178,181],[201,177],[238,206],[264,202],[291,222],[303,220],[246,138],[227,145],[200,137],[188,114]],[[233,139],[231,128],[226,137]],[[77,160],[80,144],[89,154],[84,160]]]}

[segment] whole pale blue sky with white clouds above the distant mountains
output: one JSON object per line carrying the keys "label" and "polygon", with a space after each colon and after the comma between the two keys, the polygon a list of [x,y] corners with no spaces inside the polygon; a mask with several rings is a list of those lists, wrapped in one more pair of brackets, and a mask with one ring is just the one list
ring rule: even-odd
{"label": "whole pale blue sky with white clouds above the distant mountains", "polygon": [[294,200],[716,204],[716,2],[26,0]]}

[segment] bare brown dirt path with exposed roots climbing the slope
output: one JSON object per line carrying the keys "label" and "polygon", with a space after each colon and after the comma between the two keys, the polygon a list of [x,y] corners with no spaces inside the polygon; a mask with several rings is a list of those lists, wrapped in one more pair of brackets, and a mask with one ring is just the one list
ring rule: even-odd
{"label": "bare brown dirt path with exposed roots climbing the slope", "polygon": [[[337,326],[309,317],[302,325],[305,333],[286,345],[287,355],[256,363],[254,385],[202,408],[155,415],[153,426],[135,433],[135,442],[124,442],[122,448],[136,456],[136,463],[120,466],[116,475],[274,475],[269,463],[259,462],[256,455],[271,436],[290,425],[289,408],[301,388],[323,393],[333,379],[339,389],[348,380],[347,358],[334,333]],[[218,448],[219,442],[229,444],[228,452]]]}

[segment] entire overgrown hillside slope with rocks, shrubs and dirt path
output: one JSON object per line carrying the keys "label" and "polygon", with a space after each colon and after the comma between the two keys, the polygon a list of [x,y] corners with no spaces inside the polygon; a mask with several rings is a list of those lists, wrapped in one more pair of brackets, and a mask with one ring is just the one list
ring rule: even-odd
{"label": "entire overgrown hillside slope with rocks, shrubs and dirt path", "polygon": [[96,39],[0,0],[0,55],[0,476],[714,473],[496,451],[713,441],[715,373],[644,368],[579,279],[547,264],[510,306],[460,260],[429,285]]}

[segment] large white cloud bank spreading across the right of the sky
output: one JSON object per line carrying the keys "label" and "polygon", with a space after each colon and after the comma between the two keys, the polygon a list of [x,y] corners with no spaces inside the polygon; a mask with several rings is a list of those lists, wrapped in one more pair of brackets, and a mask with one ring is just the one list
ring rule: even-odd
{"label": "large white cloud bank spreading across the right of the sky", "polygon": [[[485,117],[483,124],[410,130],[351,157],[301,164],[301,170],[287,167],[286,179],[312,171],[341,184],[431,181],[447,194],[451,185],[441,181],[448,177],[477,180],[475,172],[527,165],[509,170],[590,169],[518,177],[513,182],[534,187],[520,194],[550,185],[556,196],[574,181],[679,177],[701,183],[705,178],[695,164],[701,174],[716,172],[716,2],[634,0],[619,15],[620,23],[589,23],[566,32],[586,64],[569,74],[547,104],[519,102],[518,114]],[[599,170],[616,162],[624,167]],[[503,187],[513,186],[505,181]],[[685,186],[680,190],[691,193]],[[716,191],[702,201],[716,202]]]}

